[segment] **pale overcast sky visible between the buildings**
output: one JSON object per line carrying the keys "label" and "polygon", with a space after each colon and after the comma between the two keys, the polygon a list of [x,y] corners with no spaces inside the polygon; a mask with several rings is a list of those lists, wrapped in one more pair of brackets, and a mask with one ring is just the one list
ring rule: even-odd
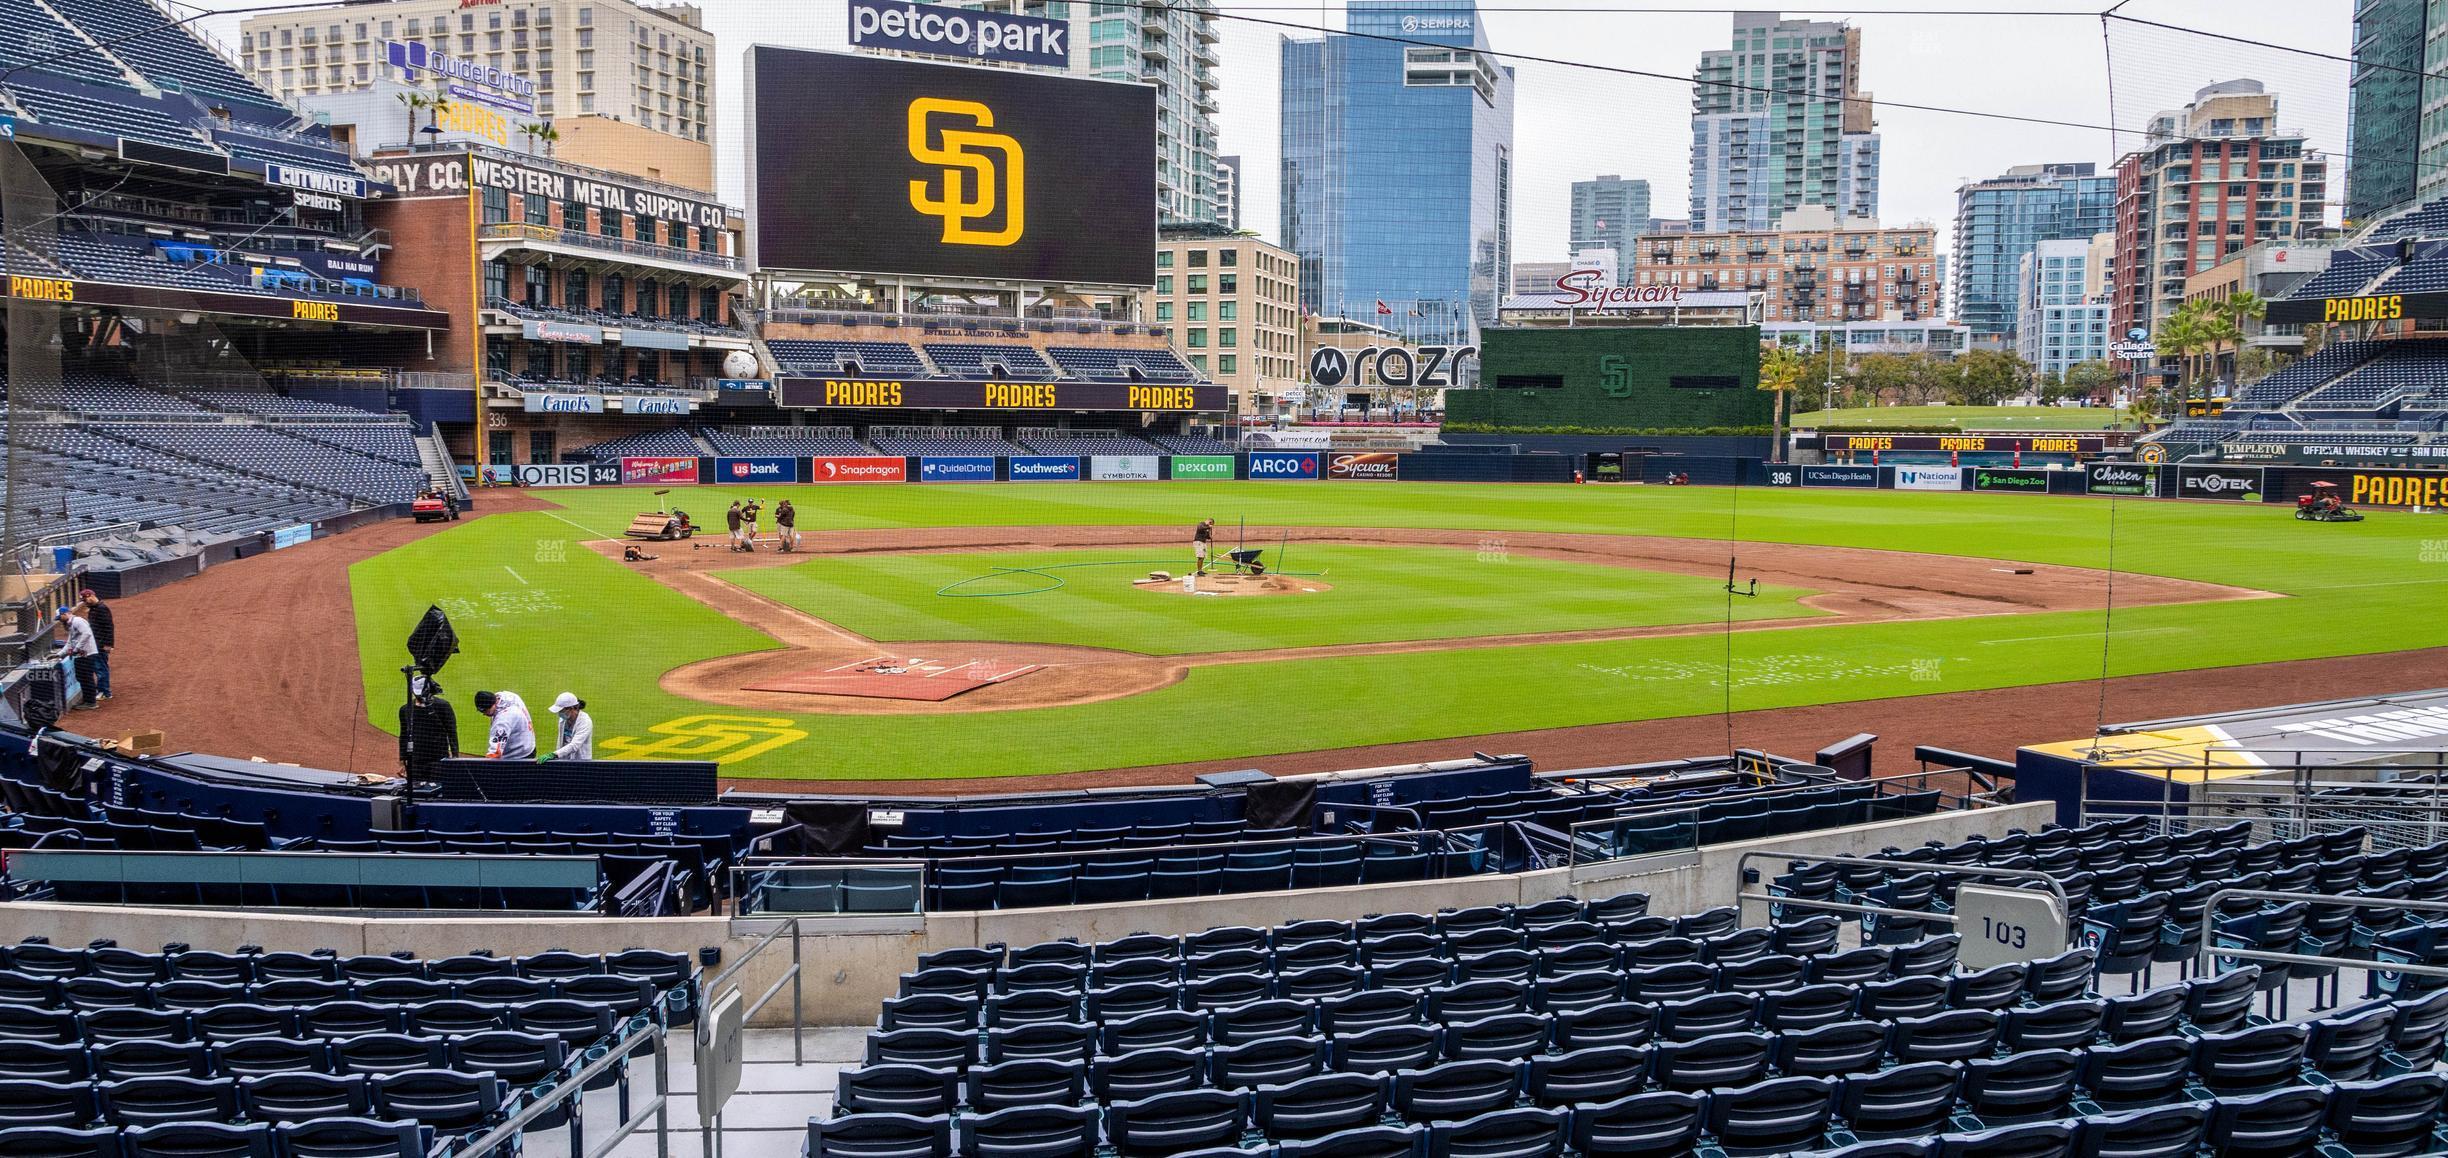
{"label": "pale overcast sky visible between the buildings", "polygon": [[[717,76],[720,193],[742,201],[739,54],[754,42],[842,47],[842,0],[700,0],[722,42]],[[1244,225],[1275,235],[1278,42],[1302,29],[1339,27],[1342,2],[1217,0],[1224,20],[1219,56],[1222,152],[1244,157]],[[1880,98],[1883,201],[1887,223],[1936,223],[1949,245],[1954,191],[2032,162],[2098,162],[2105,171],[2135,137],[2110,137],[2105,125],[2137,127],[2152,110],[2228,78],[2260,78],[2279,93],[2279,120],[2313,147],[2345,152],[2343,61],[2304,51],[2272,51],[2203,34],[2110,22],[2066,0],[1868,0],[1863,7],[1785,10],[1789,17],[1851,20],[1863,32],[1863,88]],[[208,0],[242,7],[242,0]],[[1985,15],[1900,15],[1897,10],[1978,10]],[[1883,12],[1885,10],[1885,12]],[[2061,10],[2069,15],[2005,15]],[[2345,56],[2353,44],[2350,0],[2130,0],[2122,17],[2262,39],[2291,49]],[[1290,24],[1290,27],[1283,27]],[[208,24],[237,42],[237,17]],[[1731,39],[1728,10],[1689,0],[1486,0],[1481,27],[1518,73],[1515,100],[1515,260],[1562,260],[1574,179],[1623,174],[1648,179],[1655,215],[1679,218],[1689,196],[1689,73],[1704,49]],[[1087,51],[1087,44],[1072,51]],[[2115,66],[2110,69],[2110,61]],[[1625,76],[1628,69],[1662,78]],[[2110,120],[2110,78],[2115,118]],[[1985,120],[1956,113],[1895,108],[1917,103],[2076,127]],[[820,115],[820,105],[810,108]],[[2330,198],[2343,198],[2340,176]],[[2335,218],[2335,211],[2330,213]]]}

